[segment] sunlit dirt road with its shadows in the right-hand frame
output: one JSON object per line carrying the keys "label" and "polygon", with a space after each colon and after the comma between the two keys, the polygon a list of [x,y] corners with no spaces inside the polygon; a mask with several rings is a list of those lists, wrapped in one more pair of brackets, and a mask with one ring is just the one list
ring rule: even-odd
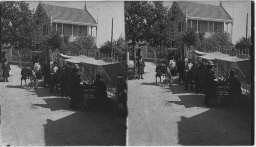
{"label": "sunlit dirt road with its shadows in the right-hand frame", "polygon": [[[129,80],[129,145],[250,145],[250,103],[204,106],[204,95],[155,83],[155,65],[144,80]],[[159,79],[158,79],[159,82]]]}

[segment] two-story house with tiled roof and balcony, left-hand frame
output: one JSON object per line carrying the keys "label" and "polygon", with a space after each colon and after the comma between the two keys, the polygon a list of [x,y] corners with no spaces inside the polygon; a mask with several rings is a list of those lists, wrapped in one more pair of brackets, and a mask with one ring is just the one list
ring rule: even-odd
{"label": "two-story house with tiled roof and balcony, left-hand frame", "polygon": [[[61,35],[70,35],[71,41],[80,35],[91,35],[96,40],[98,24],[87,10],[86,4],[84,9],[76,9],[39,2],[35,15],[40,17],[39,24],[42,26],[44,35],[50,35],[53,31],[57,31]],[[94,27],[95,35],[92,34]]]}

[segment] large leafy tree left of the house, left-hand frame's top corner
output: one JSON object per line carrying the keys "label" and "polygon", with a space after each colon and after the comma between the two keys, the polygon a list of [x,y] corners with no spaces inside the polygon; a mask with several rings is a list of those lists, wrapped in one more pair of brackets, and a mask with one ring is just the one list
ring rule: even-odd
{"label": "large leafy tree left of the house, left-hand frame's top corner", "polygon": [[38,17],[33,15],[25,2],[7,1],[2,12],[2,44],[17,47],[28,47],[39,44],[42,39],[41,26]]}

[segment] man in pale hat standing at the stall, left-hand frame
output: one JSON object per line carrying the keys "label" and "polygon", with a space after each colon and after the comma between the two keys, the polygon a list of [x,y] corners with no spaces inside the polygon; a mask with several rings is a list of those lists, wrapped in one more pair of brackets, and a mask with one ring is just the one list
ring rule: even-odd
{"label": "man in pale hat standing at the stall, left-hand frame", "polygon": [[80,75],[78,74],[78,70],[79,70],[79,66],[77,64],[74,65],[70,78],[69,79],[69,88],[70,88],[70,108],[71,109],[75,109],[76,108],[76,104],[77,104],[77,100],[79,97],[79,93],[80,93]]}

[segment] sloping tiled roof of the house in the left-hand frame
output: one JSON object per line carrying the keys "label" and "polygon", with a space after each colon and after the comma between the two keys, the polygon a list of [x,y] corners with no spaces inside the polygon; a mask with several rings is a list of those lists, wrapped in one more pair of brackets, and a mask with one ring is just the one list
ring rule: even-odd
{"label": "sloping tiled roof of the house in the left-hand frame", "polygon": [[96,26],[97,23],[92,15],[83,9],[70,7],[61,7],[55,5],[39,4],[50,18],[52,15],[53,22],[69,22],[70,24],[91,24]]}

